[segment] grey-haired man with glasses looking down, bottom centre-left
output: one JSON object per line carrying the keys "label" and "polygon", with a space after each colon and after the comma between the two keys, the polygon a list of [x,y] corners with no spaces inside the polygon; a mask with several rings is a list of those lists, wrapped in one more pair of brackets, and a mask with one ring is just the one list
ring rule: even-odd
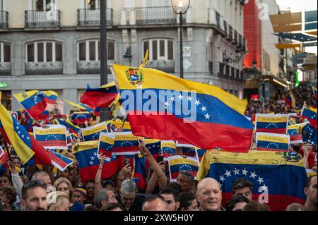
{"label": "grey-haired man with glasses looking down, bottom centre-left", "polygon": [[124,180],[117,200],[126,211],[142,210],[143,197],[137,196],[137,186],[134,181]]}

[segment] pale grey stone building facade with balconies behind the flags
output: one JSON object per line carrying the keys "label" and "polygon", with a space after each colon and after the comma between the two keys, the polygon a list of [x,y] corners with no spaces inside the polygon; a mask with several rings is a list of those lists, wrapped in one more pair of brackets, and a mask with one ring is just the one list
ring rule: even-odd
{"label": "pale grey stone building facade with balconies behind the flags", "polygon": [[[184,16],[184,78],[243,97],[244,1],[191,1]],[[14,93],[54,90],[62,113],[100,86],[99,0],[0,0],[2,102]],[[128,51],[128,50],[131,51]],[[170,0],[107,0],[107,59],[179,75],[179,18]],[[131,52],[131,55],[129,54]],[[113,80],[109,72],[108,82]]]}

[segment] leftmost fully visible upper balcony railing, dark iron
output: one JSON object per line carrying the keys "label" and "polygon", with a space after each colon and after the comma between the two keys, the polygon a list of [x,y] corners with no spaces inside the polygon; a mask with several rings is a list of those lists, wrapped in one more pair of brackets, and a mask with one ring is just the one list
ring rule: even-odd
{"label": "leftmost fully visible upper balcony railing, dark iron", "polygon": [[61,23],[61,12],[25,11],[25,28],[58,28]]}

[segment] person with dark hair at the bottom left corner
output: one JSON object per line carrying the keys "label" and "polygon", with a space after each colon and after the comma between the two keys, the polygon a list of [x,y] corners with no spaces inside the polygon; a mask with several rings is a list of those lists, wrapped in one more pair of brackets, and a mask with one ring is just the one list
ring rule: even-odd
{"label": "person with dark hair at the bottom left corner", "polygon": [[13,187],[0,188],[0,204],[3,205],[4,211],[20,211],[19,205],[16,205],[16,190]]}

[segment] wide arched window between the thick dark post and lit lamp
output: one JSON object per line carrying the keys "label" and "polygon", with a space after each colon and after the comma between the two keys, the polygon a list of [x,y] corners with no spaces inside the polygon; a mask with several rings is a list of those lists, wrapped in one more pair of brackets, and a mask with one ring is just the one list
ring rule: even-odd
{"label": "wide arched window between the thick dark post and lit lamp", "polygon": [[173,60],[173,41],[172,39],[148,39],[143,41],[143,56],[149,49],[150,61]]}

